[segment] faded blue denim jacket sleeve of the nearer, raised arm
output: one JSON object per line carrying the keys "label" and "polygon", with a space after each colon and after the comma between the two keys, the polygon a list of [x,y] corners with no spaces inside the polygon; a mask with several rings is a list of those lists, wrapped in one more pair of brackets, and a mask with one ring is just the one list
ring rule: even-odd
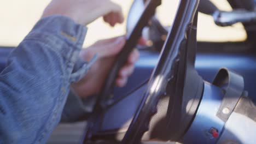
{"label": "faded blue denim jacket sleeve of the nearer, raised arm", "polygon": [[63,16],[41,19],[0,74],[0,143],[45,143],[61,118],[86,28]]}

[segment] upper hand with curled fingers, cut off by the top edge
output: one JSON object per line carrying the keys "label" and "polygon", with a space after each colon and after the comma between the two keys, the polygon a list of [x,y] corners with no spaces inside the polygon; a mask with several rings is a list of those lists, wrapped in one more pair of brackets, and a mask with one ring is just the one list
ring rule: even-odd
{"label": "upper hand with curled fingers, cut off by the top edge", "polygon": [[70,17],[81,25],[88,25],[101,16],[111,26],[124,21],[120,5],[110,0],[52,0],[42,17],[56,14]]}

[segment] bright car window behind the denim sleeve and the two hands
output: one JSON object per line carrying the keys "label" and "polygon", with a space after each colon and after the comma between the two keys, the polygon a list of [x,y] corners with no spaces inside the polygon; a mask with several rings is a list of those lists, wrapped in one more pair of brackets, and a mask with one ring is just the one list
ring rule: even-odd
{"label": "bright car window behind the denim sleeve and the two hands", "polygon": [[[33,25],[39,20],[44,8],[50,0],[8,0],[0,4],[0,46],[17,46]],[[125,16],[130,8],[130,0],[114,0],[124,9]],[[98,19],[91,23],[86,35],[86,45],[93,44],[98,39],[115,37],[125,34],[125,23],[110,27]]]}

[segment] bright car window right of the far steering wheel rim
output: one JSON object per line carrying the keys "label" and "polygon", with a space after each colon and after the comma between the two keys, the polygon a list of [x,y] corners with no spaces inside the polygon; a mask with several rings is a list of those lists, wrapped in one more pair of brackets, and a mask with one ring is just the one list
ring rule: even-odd
{"label": "bright car window right of the far steering wheel rim", "polygon": [[[173,23],[178,2],[162,1],[163,6],[158,9],[157,16],[164,26],[170,26]],[[226,0],[213,0],[212,2],[220,10],[232,10]],[[171,8],[170,5],[172,5]],[[214,23],[212,16],[202,13],[199,13],[197,30],[197,40],[199,41],[244,41],[247,38],[245,28],[241,23],[229,27],[219,27]]]}

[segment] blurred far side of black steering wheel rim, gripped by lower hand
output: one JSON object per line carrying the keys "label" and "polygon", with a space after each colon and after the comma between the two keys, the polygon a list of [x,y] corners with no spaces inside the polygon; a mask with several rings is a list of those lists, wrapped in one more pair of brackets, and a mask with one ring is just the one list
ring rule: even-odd
{"label": "blurred far side of black steering wheel rim, gripped by lower hand", "polygon": [[92,115],[89,118],[85,131],[85,139],[90,139],[94,129],[97,129],[95,128],[96,126],[94,125],[94,122],[97,121],[98,113],[104,111],[107,106],[114,103],[114,101],[112,101],[112,92],[115,86],[115,79],[118,75],[118,71],[127,61],[133,47],[136,47],[137,41],[141,37],[142,29],[148,24],[148,21],[155,13],[156,7],[158,7],[160,4],[161,0],[149,0],[145,4],[145,9],[137,21],[135,28],[133,28],[132,32],[127,35],[126,43],[123,49],[120,51],[112,69],[110,70],[101,93],[97,97],[94,110],[92,111]]}

